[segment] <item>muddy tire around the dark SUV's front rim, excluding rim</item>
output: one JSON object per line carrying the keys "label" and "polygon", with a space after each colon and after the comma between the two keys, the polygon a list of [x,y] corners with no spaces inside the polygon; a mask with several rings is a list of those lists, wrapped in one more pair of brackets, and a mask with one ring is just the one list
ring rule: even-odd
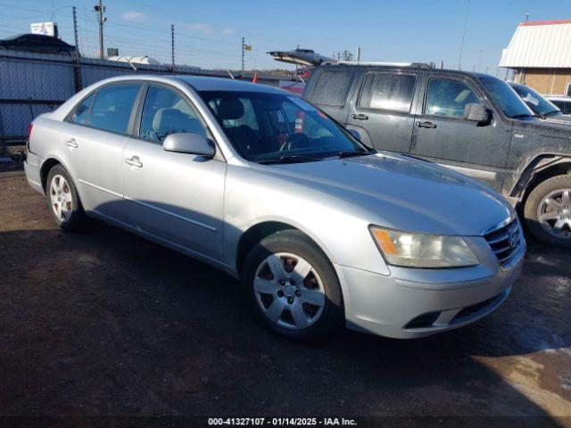
{"label": "muddy tire around the dark SUV's front rim, excluding rim", "polygon": [[[571,248],[571,232],[567,234],[567,237],[551,235],[547,230],[545,230],[538,218],[538,210],[544,198],[550,193],[558,190],[568,190],[571,192],[570,175],[550,177],[540,185],[537,185],[534,190],[529,193],[529,196],[525,201],[525,224],[527,225],[529,232],[542,243],[547,243],[560,248]],[[571,209],[571,206],[569,209]],[[571,217],[571,213],[569,211],[567,211],[567,214]],[[565,216],[567,216],[567,214],[564,213]]]}

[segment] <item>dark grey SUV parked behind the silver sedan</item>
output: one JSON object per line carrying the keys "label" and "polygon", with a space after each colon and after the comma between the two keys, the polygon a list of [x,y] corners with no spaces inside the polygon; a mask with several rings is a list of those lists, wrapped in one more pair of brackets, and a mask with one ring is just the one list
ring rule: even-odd
{"label": "dark grey SUV parked behind the silver sedan", "polygon": [[520,208],[534,236],[571,248],[571,128],[539,119],[501,79],[337,62],[312,70],[303,98],[366,144],[490,185]]}

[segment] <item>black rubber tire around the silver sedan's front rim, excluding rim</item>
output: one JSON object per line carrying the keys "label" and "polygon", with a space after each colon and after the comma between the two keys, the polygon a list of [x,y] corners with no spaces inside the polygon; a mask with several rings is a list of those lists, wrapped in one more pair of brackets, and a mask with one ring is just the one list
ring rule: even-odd
{"label": "black rubber tire around the silver sedan's front rim, excluding rim", "polygon": [[[277,325],[269,317],[266,317],[256,298],[256,292],[254,292],[254,276],[262,262],[271,254],[282,252],[294,254],[309,262],[311,267],[317,271],[325,291],[325,305],[320,317],[314,324],[302,329],[291,329]],[[285,230],[262,239],[246,257],[241,278],[249,309],[252,310],[261,325],[272,332],[289,339],[307,341],[322,337],[335,329],[343,328],[343,297],[335,268],[325,253],[300,231]]]}

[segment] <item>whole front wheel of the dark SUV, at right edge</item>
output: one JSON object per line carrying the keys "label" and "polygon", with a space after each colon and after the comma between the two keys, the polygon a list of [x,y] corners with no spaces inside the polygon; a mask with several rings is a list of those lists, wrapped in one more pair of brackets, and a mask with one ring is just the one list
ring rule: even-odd
{"label": "whole front wheel of the dark SUV, at right edge", "polygon": [[543,243],[571,248],[571,176],[556,176],[534,188],[525,201],[525,222]]}

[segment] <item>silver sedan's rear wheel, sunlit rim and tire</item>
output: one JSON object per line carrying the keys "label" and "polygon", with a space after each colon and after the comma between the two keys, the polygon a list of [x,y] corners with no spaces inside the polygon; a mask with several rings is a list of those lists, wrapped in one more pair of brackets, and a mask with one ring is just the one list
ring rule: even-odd
{"label": "silver sedan's rear wheel, sunlit rim and tire", "polygon": [[68,171],[61,165],[50,169],[46,181],[47,206],[55,223],[64,230],[77,230],[85,220],[79,194]]}

